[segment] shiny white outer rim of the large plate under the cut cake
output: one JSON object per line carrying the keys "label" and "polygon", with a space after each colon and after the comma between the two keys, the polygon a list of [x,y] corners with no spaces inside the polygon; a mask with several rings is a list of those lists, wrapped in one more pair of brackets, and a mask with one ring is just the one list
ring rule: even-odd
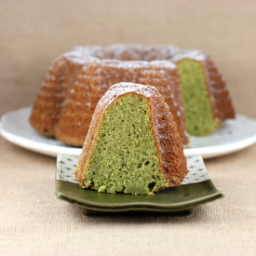
{"label": "shiny white outer rim of the large plate under the cut cake", "polygon": [[[82,147],[75,148],[75,147],[70,147],[68,145],[61,146],[61,145],[47,144],[40,141],[34,141],[34,140],[24,138],[20,135],[14,134],[8,131],[7,129],[3,128],[4,123],[6,122],[6,119],[9,115],[18,114],[21,111],[29,112],[31,110],[32,110],[32,106],[27,106],[27,107],[19,108],[17,110],[9,111],[4,115],[2,115],[1,121],[0,121],[0,134],[2,135],[2,137],[13,144],[16,144],[20,147],[26,148],[28,150],[31,150],[43,155],[57,156],[59,154],[67,154],[67,155],[79,156],[81,154]],[[236,114],[236,116],[243,116],[250,120],[256,121],[255,119],[250,118],[246,115]],[[255,142],[256,142],[256,132],[255,132],[255,135],[250,136],[249,138],[243,139],[241,141],[235,141],[231,143],[214,145],[209,147],[184,149],[184,155],[186,155],[187,157],[193,156],[193,155],[202,155],[204,159],[207,159],[211,157],[228,155],[228,154],[234,153],[236,151],[249,147]]]}

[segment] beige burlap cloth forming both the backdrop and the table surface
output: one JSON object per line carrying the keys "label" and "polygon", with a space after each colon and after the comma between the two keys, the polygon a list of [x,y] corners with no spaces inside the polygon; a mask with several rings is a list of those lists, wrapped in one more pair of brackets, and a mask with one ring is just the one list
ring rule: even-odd
{"label": "beige burlap cloth forming both the backdrop and the table surface", "polygon": [[[256,118],[255,27],[255,1],[1,1],[0,115],[32,104],[75,45],[171,43],[209,52]],[[88,218],[56,199],[54,157],[0,143],[0,255],[256,254],[256,145],[206,161],[226,196],[191,216]]]}

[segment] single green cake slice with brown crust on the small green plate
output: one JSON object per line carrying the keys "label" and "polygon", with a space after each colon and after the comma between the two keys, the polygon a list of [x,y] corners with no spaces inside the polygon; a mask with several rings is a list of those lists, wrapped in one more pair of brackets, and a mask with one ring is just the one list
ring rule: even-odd
{"label": "single green cake slice with brown crust on the small green plate", "polygon": [[119,83],[96,106],[75,170],[84,188],[150,195],[186,176],[181,137],[155,87]]}

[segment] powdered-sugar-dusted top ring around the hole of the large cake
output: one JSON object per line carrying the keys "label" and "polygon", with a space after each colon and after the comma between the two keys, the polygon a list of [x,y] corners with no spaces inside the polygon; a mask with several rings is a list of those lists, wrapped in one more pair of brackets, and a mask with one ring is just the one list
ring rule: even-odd
{"label": "powdered-sugar-dusted top ring around the hole of the large cake", "polygon": [[124,68],[141,68],[142,66],[157,65],[159,68],[175,69],[171,57],[179,51],[178,47],[159,46],[141,47],[137,45],[112,45],[109,47],[74,47],[63,54],[65,58],[79,64],[91,61],[103,61],[108,65],[119,65]]}

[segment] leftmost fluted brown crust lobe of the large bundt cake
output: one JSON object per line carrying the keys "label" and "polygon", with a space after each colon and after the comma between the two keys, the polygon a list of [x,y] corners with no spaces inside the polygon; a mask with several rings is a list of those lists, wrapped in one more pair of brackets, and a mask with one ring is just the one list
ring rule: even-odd
{"label": "leftmost fluted brown crust lobe of the large bundt cake", "polygon": [[[82,58],[81,56],[80,59]],[[30,123],[37,131],[46,136],[55,136],[62,104],[85,64],[78,57],[73,60],[65,55],[53,62],[37,92],[30,117]]]}

